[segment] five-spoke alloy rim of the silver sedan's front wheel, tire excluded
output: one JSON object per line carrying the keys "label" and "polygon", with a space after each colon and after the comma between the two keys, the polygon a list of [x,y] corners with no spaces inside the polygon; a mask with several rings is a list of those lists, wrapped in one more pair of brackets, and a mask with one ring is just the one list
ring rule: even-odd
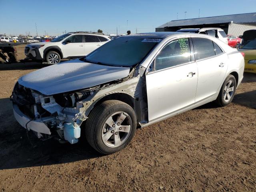
{"label": "five-spoke alloy rim of the silver sedan's front wheel, tire excluded", "polygon": [[112,148],[122,145],[129,137],[132,120],[125,112],[112,114],[102,127],[102,141]]}

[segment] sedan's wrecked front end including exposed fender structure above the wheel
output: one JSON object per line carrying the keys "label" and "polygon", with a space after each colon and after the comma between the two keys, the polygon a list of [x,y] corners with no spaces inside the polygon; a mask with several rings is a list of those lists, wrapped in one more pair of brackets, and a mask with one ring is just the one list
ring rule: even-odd
{"label": "sedan's wrecked front end including exposed fender structure above the wheel", "polygon": [[20,125],[34,131],[38,138],[57,138],[60,142],[67,140],[74,144],[80,138],[82,122],[88,118],[94,105],[105,96],[126,94],[134,100],[137,98],[138,105],[134,108],[143,108],[138,99],[140,91],[137,90],[140,76],[134,76],[134,71],[132,69],[126,78],[50,96],[17,82],[12,92],[14,116]]}

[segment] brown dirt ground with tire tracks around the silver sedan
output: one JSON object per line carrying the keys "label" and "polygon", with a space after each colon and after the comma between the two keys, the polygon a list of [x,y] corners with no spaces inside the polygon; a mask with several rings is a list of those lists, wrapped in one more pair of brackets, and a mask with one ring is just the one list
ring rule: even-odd
{"label": "brown dirt ground with tire tracks around the silver sedan", "polygon": [[[24,58],[24,46],[18,48]],[[102,156],[86,142],[40,141],[14,119],[14,83],[42,64],[0,64],[0,192],[256,191],[256,74],[234,101],[213,103],[136,131]]]}

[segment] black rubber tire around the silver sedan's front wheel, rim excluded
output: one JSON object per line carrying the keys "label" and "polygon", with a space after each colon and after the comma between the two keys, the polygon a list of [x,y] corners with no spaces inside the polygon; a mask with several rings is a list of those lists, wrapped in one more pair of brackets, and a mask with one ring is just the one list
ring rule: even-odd
{"label": "black rubber tire around the silver sedan's front wheel, rim excluded", "polygon": [[[102,133],[106,120],[117,112],[125,112],[129,115],[131,120],[130,134],[128,134],[126,140],[117,147],[109,147],[104,144],[102,139]],[[134,110],[126,103],[118,100],[104,101],[96,106],[88,116],[85,124],[85,136],[87,142],[102,154],[113,154],[125,148],[132,140],[137,126],[137,119]],[[114,136],[114,134],[112,135]],[[119,134],[118,134],[119,136]]]}

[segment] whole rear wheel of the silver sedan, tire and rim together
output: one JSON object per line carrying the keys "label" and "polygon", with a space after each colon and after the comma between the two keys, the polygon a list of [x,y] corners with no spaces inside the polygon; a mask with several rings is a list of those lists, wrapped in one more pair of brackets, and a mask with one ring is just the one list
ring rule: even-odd
{"label": "whole rear wheel of the silver sedan, tire and rim together", "polygon": [[236,78],[233,75],[228,75],[224,81],[218,98],[216,100],[219,106],[226,106],[232,102],[236,92]]}

